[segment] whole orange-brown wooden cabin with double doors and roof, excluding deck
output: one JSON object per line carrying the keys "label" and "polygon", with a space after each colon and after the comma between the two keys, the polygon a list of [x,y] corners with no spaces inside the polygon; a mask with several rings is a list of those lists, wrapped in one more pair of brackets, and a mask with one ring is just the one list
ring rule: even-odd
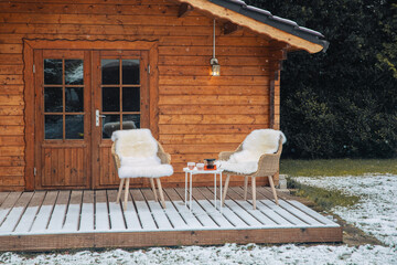
{"label": "whole orange-brown wooden cabin with double doors and roof, excluding deck", "polygon": [[179,186],[187,161],[278,129],[281,61],[328,46],[238,0],[0,1],[0,22],[1,191],[117,187],[109,138],[135,127],[171,153],[162,181]]}

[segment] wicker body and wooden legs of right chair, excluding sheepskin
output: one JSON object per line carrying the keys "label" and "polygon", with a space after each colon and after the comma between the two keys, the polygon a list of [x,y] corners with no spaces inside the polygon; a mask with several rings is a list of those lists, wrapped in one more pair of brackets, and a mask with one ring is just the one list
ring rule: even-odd
{"label": "wicker body and wooden legs of right chair, excluding sheepskin", "polygon": [[[229,159],[229,157],[233,153],[242,151],[242,150],[243,150],[243,144],[240,144],[235,151],[219,152],[219,156],[218,156],[219,160],[227,160],[227,159]],[[254,210],[256,210],[256,178],[257,177],[268,177],[269,178],[269,182],[270,182],[271,191],[272,191],[273,197],[275,197],[275,201],[276,201],[277,205],[279,205],[278,198],[277,198],[277,192],[276,192],[276,189],[275,189],[273,177],[279,171],[281,151],[282,151],[282,139],[280,137],[279,147],[278,147],[277,152],[276,153],[264,153],[260,157],[259,161],[258,161],[258,170],[256,172],[254,172],[251,174],[242,174],[242,173],[232,172],[232,171],[224,171],[224,173],[227,177],[226,177],[226,181],[225,181],[225,188],[224,188],[224,193],[223,193],[223,198],[222,198],[222,203],[224,204],[224,202],[225,202],[226,192],[227,192],[227,188],[228,188],[228,184],[229,184],[230,176],[244,176],[244,200],[247,200],[248,178],[249,177],[251,178],[253,206],[254,206]]]}

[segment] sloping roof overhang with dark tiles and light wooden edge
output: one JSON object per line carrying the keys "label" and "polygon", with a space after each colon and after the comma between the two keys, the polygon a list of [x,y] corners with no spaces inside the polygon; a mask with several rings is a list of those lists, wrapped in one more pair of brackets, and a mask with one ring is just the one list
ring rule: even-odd
{"label": "sloping roof overhang with dark tiles and light wooden edge", "polygon": [[239,0],[171,0],[180,6],[180,17],[200,10],[226,21],[224,32],[239,26],[279,42],[287,52],[304,50],[309,53],[326,51],[329,42],[316,31],[299,26],[296,22],[272,15],[269,11],[247,6]]}

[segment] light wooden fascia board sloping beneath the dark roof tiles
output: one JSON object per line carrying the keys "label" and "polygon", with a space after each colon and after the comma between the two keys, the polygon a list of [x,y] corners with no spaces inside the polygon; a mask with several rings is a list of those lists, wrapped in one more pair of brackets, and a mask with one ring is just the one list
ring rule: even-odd
{"label": "light wooden fascia board sloping beneath the dark roof tiles", "polygon": [[204,11],[216,18],[225,19],[237,25],[248,28],[249,30],[257,32],[259,34],[267,35],[280,42],[286,42],[291,46],[291,49],[304,50],[309,53],[318,53],[324,49],[320,44],[307,41],[302,38],[290,34],[286,31],[268,25],[255,19],[248,18],[233,10],[217,6],[216,3],[212,3],[207,0],[174,0],[174,1],[190,4],[195,10]]}

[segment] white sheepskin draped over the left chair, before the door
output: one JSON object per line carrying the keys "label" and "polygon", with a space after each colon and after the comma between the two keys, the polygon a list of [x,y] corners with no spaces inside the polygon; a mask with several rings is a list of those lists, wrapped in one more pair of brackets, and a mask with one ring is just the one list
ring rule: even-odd
{"label": "white sheepskin draped over the left chair, before the door", "polygon": [[158,144],[149,129],[116,130],[116,153],[120,158],[119,178],[159,178],[173,174],[171,165],[162,165]]}

